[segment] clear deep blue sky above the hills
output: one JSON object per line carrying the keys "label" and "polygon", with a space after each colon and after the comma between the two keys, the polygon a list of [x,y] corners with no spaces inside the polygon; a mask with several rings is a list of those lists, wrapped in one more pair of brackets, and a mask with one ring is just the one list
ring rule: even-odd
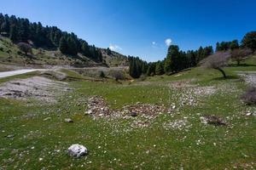
{"label": "clear deep blue sky above the hills", "polygon": [[241,40],[256,30],[255,7],[255,0],[8,0],[0,12],[155,61],[166,57],[166,43],[188,50]]}

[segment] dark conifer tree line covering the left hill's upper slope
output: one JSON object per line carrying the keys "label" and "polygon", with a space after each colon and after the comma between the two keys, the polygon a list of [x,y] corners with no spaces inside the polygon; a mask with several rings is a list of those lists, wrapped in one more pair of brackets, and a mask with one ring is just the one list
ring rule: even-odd
{"label": "dark conifer tree line covering the left hill's upper slope", "polygon": [[62,54],[84,54],[90,59],[102,61],[101,50],[77,37],[74,33],[61,31],[56,26],[42,26],[40,22],[30,22],[15,15],[0,14],[1,35],[13,42],[32,42],[37,48],[60,48]]}

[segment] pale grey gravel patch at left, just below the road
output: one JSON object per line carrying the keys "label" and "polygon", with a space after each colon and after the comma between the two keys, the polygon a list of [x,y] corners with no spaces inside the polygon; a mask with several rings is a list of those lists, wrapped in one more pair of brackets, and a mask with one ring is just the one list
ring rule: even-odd
{"label": "pale grey gravel patch at left, just below the road", "polygon": [[56,82],[45,77],[30,77],[1,84],[0,97],[55,102],[55,97],[69,90],[67,82]]}

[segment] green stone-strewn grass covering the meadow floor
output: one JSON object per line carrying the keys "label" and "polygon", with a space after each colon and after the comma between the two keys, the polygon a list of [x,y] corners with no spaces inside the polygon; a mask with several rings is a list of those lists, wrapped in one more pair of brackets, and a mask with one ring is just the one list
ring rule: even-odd
{"label": "green stone-strewn grass covering the meadow floor", "polygon": [[[256,71],[256,68],[234,66],[225,71],[232,78],[224,80],[218,78],[221,77],[218,71],[195,68],[179,73],[178,77],[149,77],[143,82],[74,81],[69,82],[74,91],[61,96],[55,105],[0,99],[0,169],[255,168],[256,119],[245,116],[245,112],[256,108],[241,103],[239,96],[247,85],[239,81],[236,71]],[[64,72],[81,78],[73,71]],[[186,94],[186,89],[170,88],[169,84],[191,79],[191,84],[218,90],[212,95],[195,96],[199,105],[180,106],[178,96]],[[140,117],[94,120],[85,116],[85,102],[91,95],[102,96],[112,108],[143,102],[166,106],[175,103],[178,110],[158,116],[149,127],[131,127]],[[201,124],[201,115],[212,114],[223,117],[229,125]],[[46,117],[51,119],[44,121]],[[67,117],[74,122],[65,123]],[[191,125],[187,130],[163,127],[183,117]],[[4,137],[8,134],[15,134],[14,139]],[[79,159],[67,156],[67,148],[76,143],[88,147],[90,154]]]}

